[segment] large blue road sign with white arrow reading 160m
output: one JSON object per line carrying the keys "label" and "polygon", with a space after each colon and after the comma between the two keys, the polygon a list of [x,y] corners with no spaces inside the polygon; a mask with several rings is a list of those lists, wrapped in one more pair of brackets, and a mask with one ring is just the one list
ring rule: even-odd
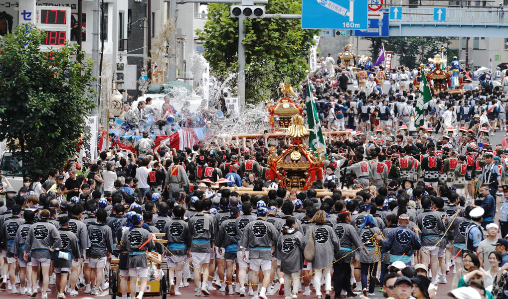
{"label": "large blue road sign with white arrow reading 160m", "polygon": [[367,29],[368,2],[302,0],[303,29]]}

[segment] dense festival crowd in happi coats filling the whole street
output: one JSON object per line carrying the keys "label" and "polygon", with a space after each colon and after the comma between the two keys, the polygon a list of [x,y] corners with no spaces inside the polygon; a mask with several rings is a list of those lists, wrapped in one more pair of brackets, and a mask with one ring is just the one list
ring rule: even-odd
{"label": "dense festival crowd in happi coats filling the whole street", "polygon": [[[176,150],[153,147],[151,132],[139,126],[136,153],[113,146],[97,161],[37,171],[20,190],[3,177],[0,290],[48,298],[56,284],[58,298],[103,295],[118,259],[115,292],[141,299],[154,251],[169,269],[170,295],[195,287],[196,296],[328,299],[372,297],[379,286],[387,297],[431,299],[436,285],[452,284],[458,299],[503,299],[508,142],[489,142],[505,130],[503,91],[436,94],[425,108],[427,125],[410,136],[411,85],[388,95],[352,92],[334,83],[337,72],[340,66],[311,74],[318,113],[325,131],[355,132],[327,135],[322,175],[309,190],[287,190],[274,179],[270,148],[280,155],[290,144],[266,131]],[[322,190],[330,195],[318,196]],[[157,239],[167,243],[150,233],[163,233]],[[138,278],[139,293],[128,287]]]}

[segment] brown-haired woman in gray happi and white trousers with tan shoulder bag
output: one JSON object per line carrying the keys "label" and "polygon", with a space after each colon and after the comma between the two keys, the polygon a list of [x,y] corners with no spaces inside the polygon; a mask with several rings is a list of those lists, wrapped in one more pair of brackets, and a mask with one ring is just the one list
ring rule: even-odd
{"label": "brown-haired woman in gray happi and white trousers with tan shoulder bag", "polygon": [[[334,254],[340,250],[339,239],[333,231],[333,228],[327,226],[326,213],[323,210],[317,211],[312,217],[313,226],[309,227],[305,234],[306,242],[310,242],[309,236],[314,242],[314,259],[311,261],[314,273],[314,285],[321,284],[322,268],[325,277],[325,291],[330,294],[332,291],[332,277],[330,270],[334,260]],[[321,290],[316,288],[316,296],[321,296]]]}

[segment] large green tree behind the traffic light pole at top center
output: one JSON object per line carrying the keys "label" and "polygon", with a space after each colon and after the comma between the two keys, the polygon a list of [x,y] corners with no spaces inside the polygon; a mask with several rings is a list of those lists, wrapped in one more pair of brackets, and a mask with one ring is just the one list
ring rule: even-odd
{"label": "large green tree behind the traffic light pole at top center", "polygon": [[[301,2],[270,1],[266,13],[300,14]],[[295,85],[305,77],[308,50],[318,30],[303,30],[300,20],[280,18],[245,19],[244,26],[248,103],[275,96],[281,82]],[[210,4],[208,21],[197,33],[204,42],[204,56],[218,77],[238,71],[238,19],[231,18],[229,4]]]}

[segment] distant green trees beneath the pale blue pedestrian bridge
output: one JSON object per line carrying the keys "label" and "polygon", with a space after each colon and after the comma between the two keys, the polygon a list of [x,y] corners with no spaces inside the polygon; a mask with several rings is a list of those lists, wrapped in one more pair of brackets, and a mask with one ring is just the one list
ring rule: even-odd
{"label": "distant green trees beneath the pale blue pedestrian bridge", "polygon": [[[451,59],[457,55],[457,51],[448,47],[450,38],[443,36],[391,36],[390,38],[366,38],[370,40],[370,50],[372,52],[372,60],[375,61],[381,53],[382,44],[385,44],[386,51],[393,51],[399,56],[399,64],[408,67],[427,63],[429,57],[441,55],[441,45],[444,46],[444,54]],[[451,60],[449,62],[451,62]]]}

